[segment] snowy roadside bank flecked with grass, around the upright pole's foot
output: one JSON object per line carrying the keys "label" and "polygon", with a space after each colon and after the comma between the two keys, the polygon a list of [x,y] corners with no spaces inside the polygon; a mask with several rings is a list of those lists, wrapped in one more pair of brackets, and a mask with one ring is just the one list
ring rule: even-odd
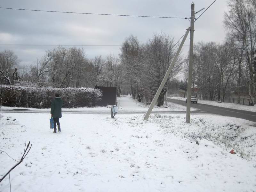
{"label": "snowy roadside bank flecked with grass, around the upright pole's foot", "polygon": [[185,123],[185,115],[152,115],[149,121],[159,124],[163,134],[210,140],[227,151],[234,148],[256,168],[256,124],[251,121],[217,115],[192,116],[190,124]]}

